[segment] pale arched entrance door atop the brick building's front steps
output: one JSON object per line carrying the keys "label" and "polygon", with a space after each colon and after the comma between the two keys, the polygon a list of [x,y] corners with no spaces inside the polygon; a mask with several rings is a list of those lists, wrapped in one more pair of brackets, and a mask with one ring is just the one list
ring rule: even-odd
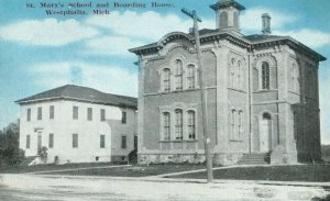
{"label": "pale arched entrance door atop the brick building's front steps", "polygon": [[272,118],[264,113],[260,123],[260,152],[271,150]]}

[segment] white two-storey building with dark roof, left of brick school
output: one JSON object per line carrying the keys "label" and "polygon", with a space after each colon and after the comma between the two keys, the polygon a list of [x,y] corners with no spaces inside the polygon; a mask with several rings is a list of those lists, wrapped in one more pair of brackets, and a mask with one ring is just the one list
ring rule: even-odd
{"label": "white two-storey building with dark roof, left of brick school", "polygon": [[20,148],[47,163],[125,161],[138,146],[136,99],[66,85],[25,99]]}

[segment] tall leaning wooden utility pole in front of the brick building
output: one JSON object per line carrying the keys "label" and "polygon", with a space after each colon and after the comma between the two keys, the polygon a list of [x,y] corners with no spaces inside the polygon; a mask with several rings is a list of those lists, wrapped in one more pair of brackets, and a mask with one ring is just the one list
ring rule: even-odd
{"label": "tall leaning wooden utility pole in front of the brick building", "polygon": [[207,118],[207,101],[205,94],[205,85],[202,79],[202,66],[201,66],[201,51],[200,51],[200,41],[199,41],[199,30],[198,22],[201,20],[197,16],[196,11],[193,12],[187,11],[187,9],[182,9],[182,12],[187,14],[194,20],[194,33],[195,33],[195,42],[196,42],[196,52],[197,52],[197,63],[199,69],[199,86],[200,86],[200,99],[201,99],[201,119],[202,119],[202,133],[204,133],[204,143],[205,143],[205,155],[206,155],[206,164],[207,164],[207,181],[213,182],[213,171],[212,171],[212,157],[210,149],[210,138],[208,134],[208,118]]}

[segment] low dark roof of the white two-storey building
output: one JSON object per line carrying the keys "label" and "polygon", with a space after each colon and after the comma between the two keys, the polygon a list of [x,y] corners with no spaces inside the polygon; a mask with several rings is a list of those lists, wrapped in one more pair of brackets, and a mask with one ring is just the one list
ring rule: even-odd
{"label": "low dark roof of the white two-storey building", "polygon": [[36,101],[46,101],[54,99],[76,100],[81,102],[125,107],[132,109],[138,108],[136,98],[105,93],[92,88],[75,85],[66,85],[63,87],[51,89],[48,91],[44,91],[24,99],[16,100],[15,102],[19,104],[25,104]]}

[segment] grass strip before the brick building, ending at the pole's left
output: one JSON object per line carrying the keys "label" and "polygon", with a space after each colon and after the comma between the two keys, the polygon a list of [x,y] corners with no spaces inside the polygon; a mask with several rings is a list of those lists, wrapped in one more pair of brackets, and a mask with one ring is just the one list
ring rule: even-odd
{"label": "grass strip before the brick building, ending at the pole's left", "polygon": [[70,175],[70,176],[146,177],[146,176],[156,176],[163,174],[188,171],[188,170],[205,169],[205,168],[206,168],[205,165],[164,164],[164,165],[132,166],[132,167],[105,168],[105,169],[82,169],[82,170],[73,170],[73,171],[50,172],[50,174]]}

